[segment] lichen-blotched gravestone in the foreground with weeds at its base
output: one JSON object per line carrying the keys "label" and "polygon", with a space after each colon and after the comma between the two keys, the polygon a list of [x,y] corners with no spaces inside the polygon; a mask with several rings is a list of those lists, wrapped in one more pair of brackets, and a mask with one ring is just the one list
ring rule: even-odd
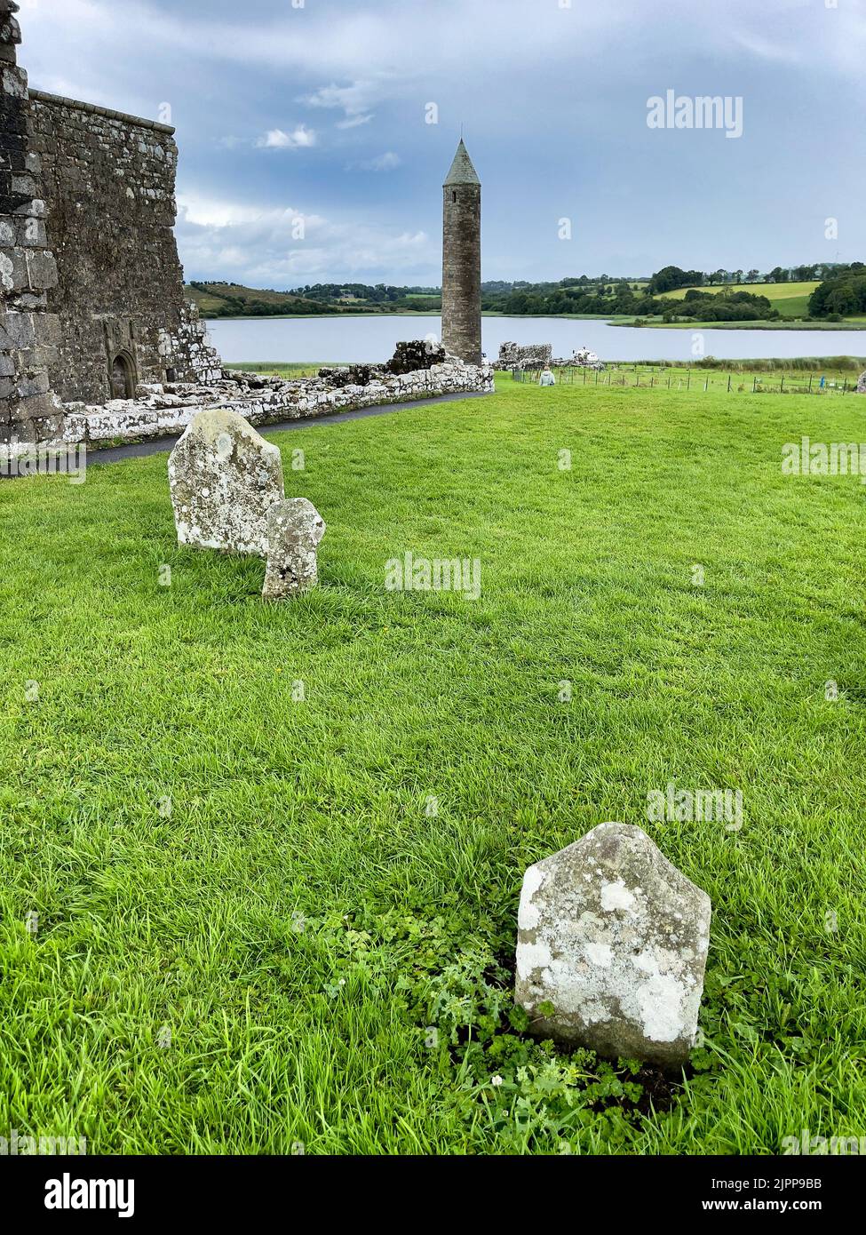
{"label": "lichen-blotched gravestone in the foreground with weeds at its base", "polygon": [[605,1058],[683,1065],[698,1029],[709,919],[707,893],[640,827],[600,824],[531,866],[516,981],[530,1032]]}

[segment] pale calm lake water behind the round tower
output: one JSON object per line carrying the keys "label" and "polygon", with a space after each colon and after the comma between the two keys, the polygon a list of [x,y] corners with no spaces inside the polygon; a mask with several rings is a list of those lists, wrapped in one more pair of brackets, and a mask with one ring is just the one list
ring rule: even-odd
{"label": "pale calm lake water behind the round tower", "polygon": [[[394,345],[439,337],[436,316],[266,317],[209,321],[214,345],[227,364],[238,362],[358,362],[390,359]],[[855,330],[704,330],[705,356],[754,361],[778,356],[866,356],[866,332]],[[562,317],[484,317],[484,351],[499,345],[552,343],[553,356],[589,347],[603,361],[694,359],[691,330],[609,326],[604,321]]]}

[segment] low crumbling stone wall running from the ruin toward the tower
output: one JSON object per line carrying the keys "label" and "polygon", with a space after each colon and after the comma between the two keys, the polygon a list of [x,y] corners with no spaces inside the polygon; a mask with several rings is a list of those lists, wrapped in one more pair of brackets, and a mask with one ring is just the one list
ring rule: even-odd
{"label": "low crumbling stone wall running from the ruin toward the tower", "polygon": [[203,408],[238,411],[251,425],[275,425],[305,416],[329,416],[378,404],[410,403],[441,394],[490,394],[493,367],[447,361],[429,369],[384,377],[367,385],[334,388],[320,378],[287,382],[254,373],[224,371],[209,385],[141,385],[138,399],[101,406],[65,404],[63,441],[105,446],[183,432]]}

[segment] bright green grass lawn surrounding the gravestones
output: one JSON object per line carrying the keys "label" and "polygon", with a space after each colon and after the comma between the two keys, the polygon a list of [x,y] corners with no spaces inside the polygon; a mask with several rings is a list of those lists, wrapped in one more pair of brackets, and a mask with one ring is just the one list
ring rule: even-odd
{"label": "bright green grass lawn surrounding the gravestones", "polygon": [[[164,456],[0,483],[0,1129],[866,1134],[864,489],[781,472],[802,433],[861,440],[866,404],[498,385],[271,435],[327,522],[321,587],[282,606],[261,562],[178,547]],[[478,558],[481,599],[385,590],[406,550]],[[741,789],[742,830],[647,823],[673,779]],[[510,1002],[524,868],[613,819],[713,899],[673,1088],[531,1044]]]}

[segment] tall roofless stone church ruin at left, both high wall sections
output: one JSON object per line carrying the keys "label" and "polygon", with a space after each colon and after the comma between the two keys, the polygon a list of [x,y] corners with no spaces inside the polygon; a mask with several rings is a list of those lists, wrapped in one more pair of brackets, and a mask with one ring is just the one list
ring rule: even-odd
{"label": "tall roofless stone church ruin at left, both high wall sections", "polygon": [[62,404],[212,380],[174,240],[174,130],[31,90],[0,0],[0,445],[62,436]]}

